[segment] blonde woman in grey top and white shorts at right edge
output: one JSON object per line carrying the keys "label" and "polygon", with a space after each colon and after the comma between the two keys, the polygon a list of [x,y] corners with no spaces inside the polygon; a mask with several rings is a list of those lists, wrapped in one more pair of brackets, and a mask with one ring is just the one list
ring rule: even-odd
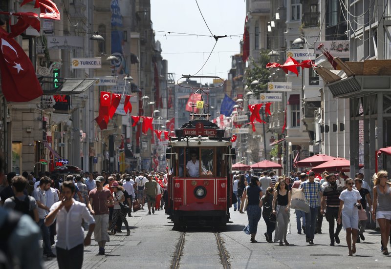
{"label": "blonde woman in grey top and white shorts at right edge", "polygon": [[373,175],[373,220],[377,220],[380,226],[383,254],[388,255],[388,241],[390,236],[391,220],[391,188],[388,181],[388,173],[380,170]]}

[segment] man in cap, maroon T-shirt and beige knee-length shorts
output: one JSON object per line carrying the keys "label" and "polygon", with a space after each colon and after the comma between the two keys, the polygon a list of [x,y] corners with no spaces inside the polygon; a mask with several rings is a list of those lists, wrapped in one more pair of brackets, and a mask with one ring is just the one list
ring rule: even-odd
{"label": "man in cap, maroon T-shirt and beige knee-length shorts", "polygon": [[113,198],[109,189],[104,188],[105,179],[97,176],[95,180],[96,188],[88,194],[89,203],[92,206],[91,213],[95,218],[94,237],[99,245],[99,254],[105,255],[106,242],[110,241],[109,233],[109,206],[114,206]]}

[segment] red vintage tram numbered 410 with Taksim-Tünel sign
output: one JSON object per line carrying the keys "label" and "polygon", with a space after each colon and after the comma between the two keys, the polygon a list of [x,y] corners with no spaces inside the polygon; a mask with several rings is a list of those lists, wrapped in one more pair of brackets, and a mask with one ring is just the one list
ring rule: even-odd
{"label": "red vintage tram numbered 410 with Taksim-T\u00fcnel sign", "polygon": [[[193,88],[193,92],[208,95],[209,89]],[[174,227],[223,228],[229,219],[235,149],[231,148],[230,137],[224,137],[225,130],[210,121],[209,104],[204,107],[207,111],[201,114],[195,114],[193,109],[191,120],[175,130],[176,137],[171,138],[167,148],[167,213]]]}

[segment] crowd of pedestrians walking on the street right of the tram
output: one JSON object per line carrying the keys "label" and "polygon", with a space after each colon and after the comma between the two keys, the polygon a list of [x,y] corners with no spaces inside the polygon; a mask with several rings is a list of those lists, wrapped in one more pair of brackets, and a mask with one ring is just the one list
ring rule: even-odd
{"label": "crowd of pedestrians walking on the street right of the tram", "polygon": [[299,189],[308,208],[305,211],[303,208],[293,209],[297,233],[302,234],[303,230],[306,243],[314,245],[315,234],[322,233],[325,215],[329,225],[329,245],[341,243],[339,234],[344,228],[348,255],[352,256],[356,253],[356,243],[365,240],[368,210],[380,228],[381,251],[389,255],[391,182],[387,171],[381,170],[373,175],[373,200],[369,184],[364,181],[362,173],[355,174],[354,179],[343,172],[316,175],[313,171],[292,171],[288,177],[276,177],[275,174],[274,171],[263,171],[257,177],[251,172],[234,173],[233,189],[238,198],[234,211],[239,208],[240,213],[247,212],[248,226],[243,231],[251,234],[251,243],[257,242],[255,236],[262,216],[266,224],[265,240],[289,246],[286,236],[290,233],[291,192],[292,189]]}

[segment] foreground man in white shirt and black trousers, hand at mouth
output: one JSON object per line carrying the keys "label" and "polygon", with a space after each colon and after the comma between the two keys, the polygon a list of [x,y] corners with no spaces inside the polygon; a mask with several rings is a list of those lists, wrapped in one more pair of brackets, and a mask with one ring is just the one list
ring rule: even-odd
{"label": "foreground man in white shirt and black trousers, hand at mouth", "polygon": [[[57,218],[57,263],[60,269],[83,266],[84,245],[91,243],[91,234],[95,228],[95,220],[85,204],[75,201],[75,185],[73,182],[63,183],[63,200],[50,207],[50,213],[45,218],[45,225],[50,226]],[[82,221],[89,224],[88,233],[84,238]]]}

